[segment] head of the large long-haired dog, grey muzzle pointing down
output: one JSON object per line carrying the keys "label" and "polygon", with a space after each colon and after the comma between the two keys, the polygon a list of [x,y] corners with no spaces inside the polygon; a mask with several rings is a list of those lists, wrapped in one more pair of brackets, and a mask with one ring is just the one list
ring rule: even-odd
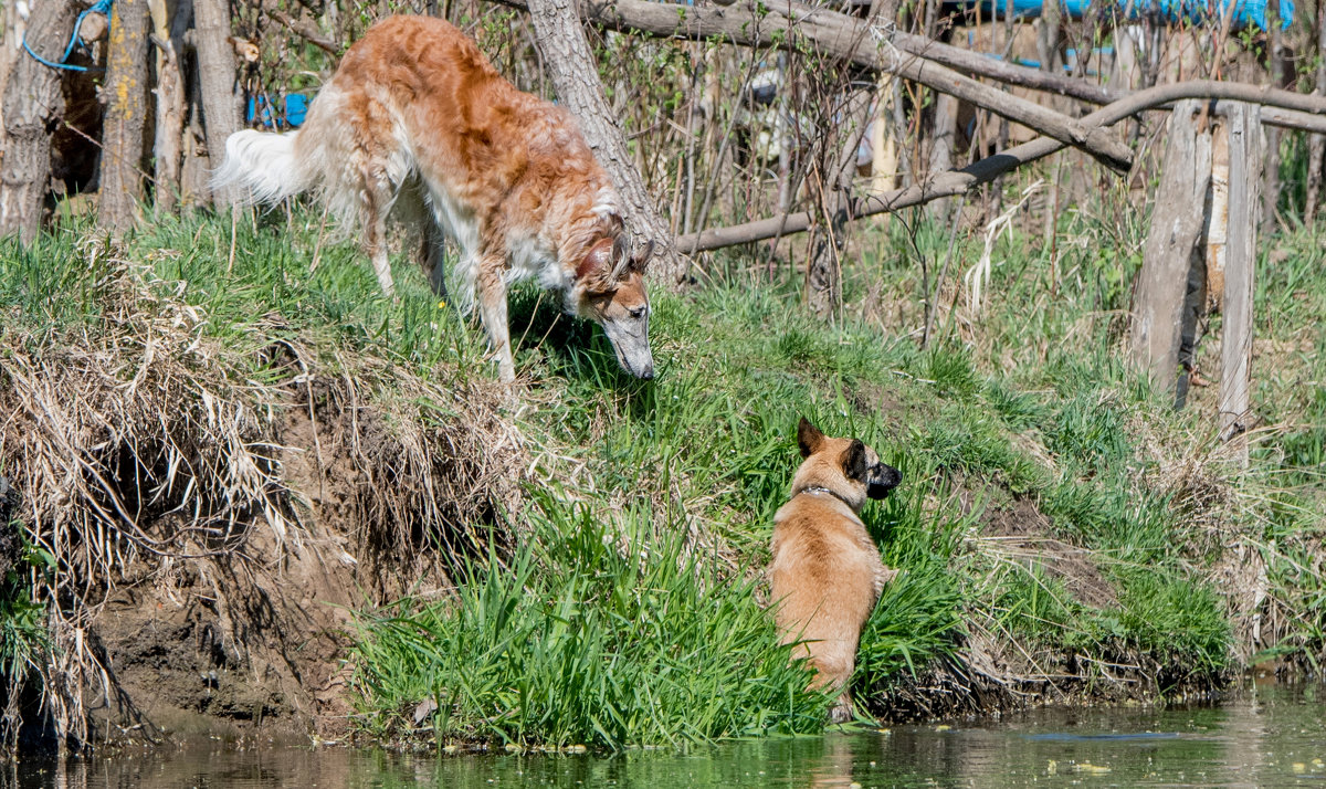
{"label": "head of the large long-haired dog, grey muzzle pointing down", "polygon": [[575,269],[575,314],[603,328],[617,362],[636,378],[654,378],[650,297],[644,292],[644,267],[652,252],[652,241],[631,255],[623,235],[603,237]]}

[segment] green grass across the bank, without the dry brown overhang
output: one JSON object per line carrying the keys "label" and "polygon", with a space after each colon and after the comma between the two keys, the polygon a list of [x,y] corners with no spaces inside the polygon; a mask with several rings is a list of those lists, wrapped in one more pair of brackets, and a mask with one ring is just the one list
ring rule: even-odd
{"label": "green grass across the bank, without the dry brown overhang", "polygon": [[[432,699],[427,736],[439,743],[623,747],[817,731],[826,700],[805,691],[756,602],[801,415],[861,436],[904,473],[863,516],[902,572],[862,637],[855,683],[867,703],[955,659],[975,627],[1038,656],[1140,654],[1175,668],[1171,678],[1219,675],[1236,664],[1237,601],[1221,597],[1213,569],[1236,538],[1262,552],[1268,605],[1294,622],[1277,654],[1317,659],[1319,233],[1277,239],[1272,249],[1288,255],[1258,269],[1260,335],[1286,350],[1258,367],[1254,399],[1282,430],[1241,472],[1205,460],[1205,395],[1175,414],[1120,361],[1119,310],[1144,232],[1135,219],[1066,216],[1053,264],[1028,235],[1001,239],[985,308],[940,316],[928,349],[912,333],[920,282],[908,256],[941,256],[948,236],[923,225],[912,245],[891,227],[878,257],[846,271],[849,304],[833,326],[804,312],[797,281],[753,281],[736,259],[696,292],[655,293],[652,383],[623,375],[598,329],[518,288],[512,335],[529,407],[512,418],[538,463],[526,505],[500,518],[516,546],[459,560],[468,583],[443,602],[362,611],[353,666],[365,727],[407,733]],[[27,251],[0,244],[7,335],[110,330],[115,263],[91,255],[101,241],[89,228],[60,228]],[[980,244],[960,239],[956,277]],[[228,223],[160,217],[123,256],[150,263],[151,288],[195,306],[199,332],[255,377],[281,374],[261,351],[282,338],[333,369],[354,354],[495,377],[480,332],[438,304],[418,271],[398,263],[400,297],[383,300],[353,245],[318,239],[316,215],[241,221],[233,237]],[[903,306],[873,304],[876,281]],[[1229,497],[1193,505],[1167,471],[1184,460]],[[1093,607],[1044,566],[992,548],[985,530],[1008,512],[1034,512],[1034,538],[1085,549],[1116,602]],[[1196,524],[1212,518],[1229,540],[1199,538]]]}

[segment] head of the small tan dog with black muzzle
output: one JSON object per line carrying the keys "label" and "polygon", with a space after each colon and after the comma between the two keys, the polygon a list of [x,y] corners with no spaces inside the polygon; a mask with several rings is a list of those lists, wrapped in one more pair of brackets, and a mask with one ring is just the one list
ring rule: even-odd
{"label": "head of the small tan dog with black muzzle", "polygon": [[861,509],[867,497],[883,499],[903,481],[903,475],[880,463],[879,455],[861,439],[829,438],[805,416],[797,426],[797,444],[804,460],[792,480],[794,492],[826,488]]}

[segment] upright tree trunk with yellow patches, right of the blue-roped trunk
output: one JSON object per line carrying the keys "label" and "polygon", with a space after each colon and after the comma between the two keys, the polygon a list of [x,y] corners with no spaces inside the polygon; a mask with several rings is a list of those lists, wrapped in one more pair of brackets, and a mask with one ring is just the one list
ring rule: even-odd
{"label": "upright tree trunk with yellow patches, right of the blue-roped trunk", "polygon": [[149,13],[147,0],[117,0],[111,8],[97,224],[122,232],[134,225],[143,199]]}

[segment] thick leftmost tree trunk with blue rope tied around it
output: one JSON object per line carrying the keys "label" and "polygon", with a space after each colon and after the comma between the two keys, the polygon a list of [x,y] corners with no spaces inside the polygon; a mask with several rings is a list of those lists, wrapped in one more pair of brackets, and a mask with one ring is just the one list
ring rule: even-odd
{"label": "thick leftmost tree trunk with blue rope tied around it", "polygon": [[[28,45],[46,60],[60,60],[77,11],[68,0],[36,3],[28,19]],[[25,244],[41,228],[41,207],[50,191],[50,133],[60,125],[65,109],[60,77],[58,69],[44,66],[24,53],[13,65],[4,91],[0,236],[17,232]]]}

